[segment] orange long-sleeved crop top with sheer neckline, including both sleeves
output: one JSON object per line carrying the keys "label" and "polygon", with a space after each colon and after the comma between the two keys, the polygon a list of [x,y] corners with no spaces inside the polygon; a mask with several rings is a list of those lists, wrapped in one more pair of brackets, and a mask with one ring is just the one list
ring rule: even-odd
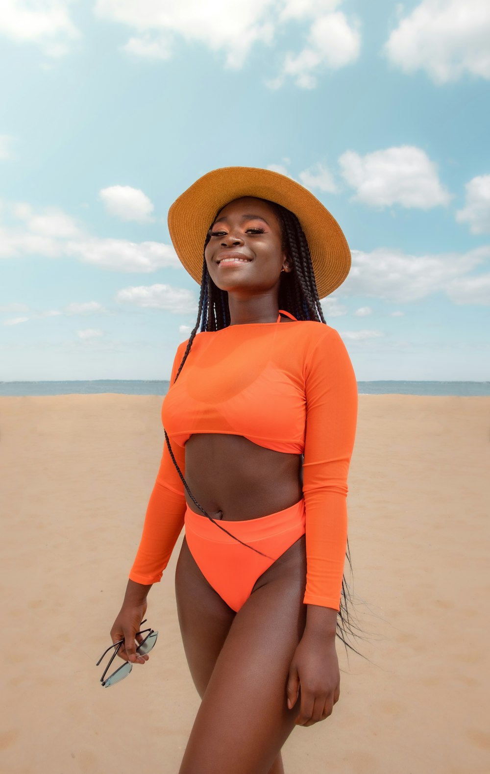
{"label": "orange long-sleeved crop top with sheer neckline, including both sleeves", "polygon": [[[357,384],[336,330],[284,313],[294,322],[231,325],[197,334],[175,382],[187,347],[183,341],[163,399],[163,426],[184,475],[184,445],[194,433],[241,435],[268,449],[304,455],[304,602],[338,610]],[[160,580],[186,507],[182,481],[164,444],[132,580]]]}

